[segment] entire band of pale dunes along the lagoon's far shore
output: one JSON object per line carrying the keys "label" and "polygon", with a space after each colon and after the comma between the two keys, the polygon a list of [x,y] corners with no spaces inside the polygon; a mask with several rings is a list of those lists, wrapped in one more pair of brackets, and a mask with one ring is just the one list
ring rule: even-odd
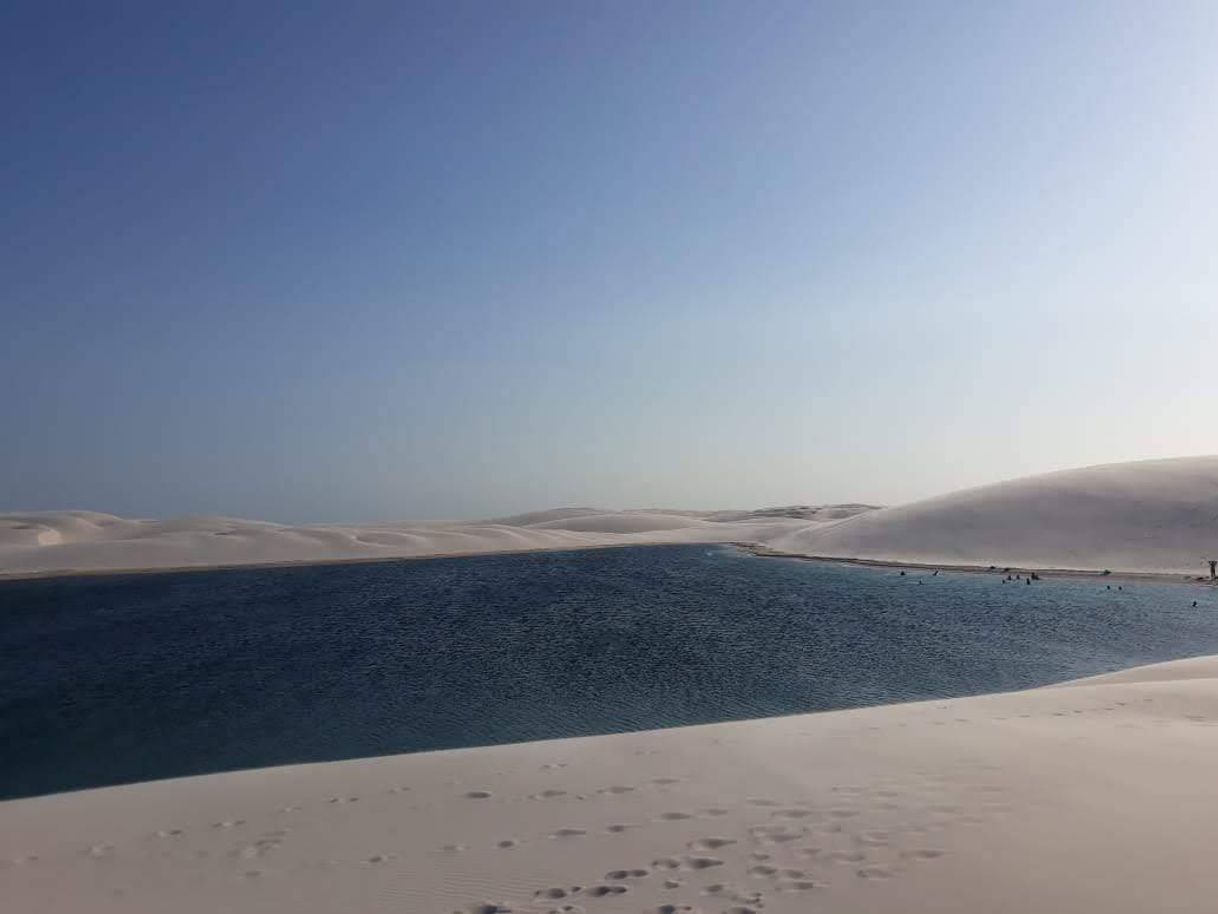
{"label": "entire band of pale dunes along the lagoon's far shore", "polygon": [[482,522],[284,525],[0,514],[0,575],[368,561],[665,542],[758,542],[803,556],[1201,574],[1218,558],[1218,457],[1086,467],[889,508],[564,507]]}

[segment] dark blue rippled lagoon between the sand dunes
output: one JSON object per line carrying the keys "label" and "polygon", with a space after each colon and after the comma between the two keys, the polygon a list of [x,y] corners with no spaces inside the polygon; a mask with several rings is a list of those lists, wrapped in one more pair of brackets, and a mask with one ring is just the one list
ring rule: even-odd
{"label": "dark blue rippled lagoon between the sand dunes", "polygon": [[1212,590],[1111,586],[705,546],[9,581],[0,797],[989,692],[1218,652]]}

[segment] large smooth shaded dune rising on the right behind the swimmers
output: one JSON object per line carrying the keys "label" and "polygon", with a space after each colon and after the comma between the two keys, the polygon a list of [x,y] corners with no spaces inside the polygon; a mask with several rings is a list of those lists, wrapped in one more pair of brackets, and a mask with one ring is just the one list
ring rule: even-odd
{"label": "large smooth shaded dune rising on the right behind the swimmers", "polygon": [[1218,558],[1218,457],[1086,467],[781,531],[837,558],[1201,574]]}

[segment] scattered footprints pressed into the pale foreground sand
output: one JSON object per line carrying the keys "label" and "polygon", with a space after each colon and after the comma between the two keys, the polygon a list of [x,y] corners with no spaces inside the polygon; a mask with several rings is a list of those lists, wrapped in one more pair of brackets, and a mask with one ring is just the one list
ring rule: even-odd
{"label": "scattered footprints pressed into the pale foreground sand", "polygon": [[[554,765],[561,768],[564,765]],[[972,767],[976,771],[980,765]],[[644,785],[610,785],[592,791],[591,795],[571,793],[552,787],[521,797],[499,797],[482,788],[465,790],[459,796],[469,802],[518,802],[518,801],[554,801],[575,803],[583,798],[600,796],[613,798],[633,793],[638,790],[661,790],[680,782],[677,778],[657,778]],[[917,779],[914,779],[917,780]],[[544,886],[536,890],[533,898],[524,907],[504,903],[477,902],[457,914],[507,914],[521,912],[527,914],[591,914],[602,899],[625,896],[641,880],[649,880],[663,892],[672,892],[675,899],[658,908],[648,909],[652,914],[756,914],[765,905],[766,892],[810,892],[827,885],[831,880],[851,877],[860,880],[883,880],[899,876],[905,868],[937,860],[944,851],[922,840],[949,825],[972,824],[980,821],[977,815],[970,815],[959,803],[934,799],[935,786],[952,782],[951,771],[922,773],[916,785],[906,779],[904,782],[883,782],[861,786],[839,786],[827,796],[816,801],[782,802],[767,797],[753,797],[745,801],[745,808],[755,810],[756,817],[764,817],[738,835],[706,835],[683,843],[680,853],[659,857],[646,864],[621,866],[607,870],[599,880],[590,885]],[[408,786],[389,787],[387,795],[406,795]],[[977,788],[978,802],[972,806],[987,812],[999,813],[1005,808],[998,795],[999,787],[980,786]],[[358,796],[324,797],[318,803],[322,807],[341,807],[359,802]],[[307,803],[279,807],[279,814],[291,814],[306,808]],[[414,807],[418,808],[418,807]],[[890,826],[877,825],[872,820],[887,812],[910,810],[918,813],[915,824]],[[580,825],[566,825],[544,835],[529,837],[501,836],[492,846],[510,851],[530,840],[581,840],[590,835],[622,835],[633,829],[680,826],[691,820],[710,820],[731,815],[732,810],[721,807],[699,809],[666,809],[649,817],[648,821],[610,823],[596,830]],[[866,825],[864,821],[866,820]],[[233,830],[239,835],[246,830],[246,820],[240,818],[220,819],[208,825],[216,830]],[[186,835],[181,827],[164,827],[150,835],[152,840],[175,842]],[[240,837],[227,857],[245,864],[257,864],[263,858],[280,848],[290,835],[289,827],[261,831],[255,837]],[[469,849],[464,843],[451,843],[437,848],[440,853],[463,853]],[[720,852],[722,856],[720,856]],[[95,845],[86,856],[105,860],[114,853],[110,845]],[[205,856],[206,852],[196,852]],[[728,857],[730,859],[723,859]],[[782,858],[782,859],[776,859]],[[352,865],[384,866],[393,863],[397,856],[390,849],[371,854]],[[330,862],[339,863],[339,862]],[[799,864],[799,865],[792,865]],[[809,869],[811,868],[811,869]],[[722,879],[720,874],[734,877],[734,881]],[[258,869],[246,869],[244,877],[262,875]],[[715,881],[721,879],[722,881]],[[680,897],[683,896],[683,897]],[[695,896],[695,898],[691,898]],[[709,907],[708,907],[709,905]]]}

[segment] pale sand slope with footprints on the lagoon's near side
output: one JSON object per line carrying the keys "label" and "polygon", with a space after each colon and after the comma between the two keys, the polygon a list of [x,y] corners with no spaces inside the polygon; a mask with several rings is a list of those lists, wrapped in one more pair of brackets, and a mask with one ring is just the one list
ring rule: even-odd
{"label": "pale sand slope with footprints on the lagoon's near side", "polygon": [[11,912],[1213,912],[1218,658],[0,804]]}

